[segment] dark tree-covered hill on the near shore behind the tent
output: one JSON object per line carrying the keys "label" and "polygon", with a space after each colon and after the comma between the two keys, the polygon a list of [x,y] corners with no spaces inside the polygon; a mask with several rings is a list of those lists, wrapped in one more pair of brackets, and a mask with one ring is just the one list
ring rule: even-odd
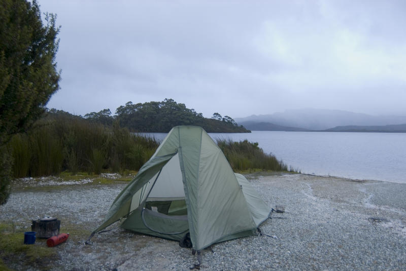
{"label": "dark tree-covered hill on the near shore behind the tent", "polygon": [[[51,109],[50,113],[62,112]],[[207,119],[201,113],[197,113],[194,109],[189,109],[185,104],[177,103],[173,99],[137,104],[127,102],[117,108],[115,115],[112,115],[110,109],[103,109],[99,112],[88,113],[84,115],[84,118],[108,126],[118,122],[121,127],[126,127],[131,132],[167,133],[179,125],[200,126],[208,133],[251,132],[243,126],[238,126],[227,115],[221,117],[219,113],[214,113],[211,119]]]}

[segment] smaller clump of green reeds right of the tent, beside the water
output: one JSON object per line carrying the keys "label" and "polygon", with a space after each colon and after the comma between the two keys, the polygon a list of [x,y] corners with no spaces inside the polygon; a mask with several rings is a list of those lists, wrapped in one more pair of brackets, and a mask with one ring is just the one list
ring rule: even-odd
{"label": "smaller clump of green reeds right of the tent, beside the water", "polygon": [[258,147],[258,143],[248,140],[233,142],[231,139],[217,139],[217,145],[235,171],[252,169],[267,171],[291,171],[282,161],[278,161],[273,154],[266,154]]}

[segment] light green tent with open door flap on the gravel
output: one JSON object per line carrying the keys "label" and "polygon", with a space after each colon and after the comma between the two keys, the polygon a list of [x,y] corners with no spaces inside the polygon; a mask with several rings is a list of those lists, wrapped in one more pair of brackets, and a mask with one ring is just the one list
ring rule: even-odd
{"label": "light green tent with open door flap on the gravel", "polygon": [[270,208],[248,180],[232,171],[200,127],[174,127],[114,200],[92,236],[121,220],[137,233],[181,240],[193,249],[256,234]]}

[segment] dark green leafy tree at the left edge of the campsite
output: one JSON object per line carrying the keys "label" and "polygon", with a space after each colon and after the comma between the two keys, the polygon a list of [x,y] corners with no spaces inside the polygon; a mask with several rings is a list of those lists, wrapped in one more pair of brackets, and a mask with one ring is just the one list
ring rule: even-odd
{"label": "dark green leafy tree at the left edge of the campsite", "polygon": [[[28,131],[59,89],[56,15],[45,14],[44,25],[35,0],[0,2],[0,204],[9,196],[9,154],[12,135]],[[10,163],[10,161],[8,162]]]}

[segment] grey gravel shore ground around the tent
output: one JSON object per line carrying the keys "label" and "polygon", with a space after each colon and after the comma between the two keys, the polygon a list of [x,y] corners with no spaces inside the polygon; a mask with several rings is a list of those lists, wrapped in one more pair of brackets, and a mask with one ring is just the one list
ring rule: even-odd
{"label": "grey gravel shore ground around the tent", "polygon": [[[303,174],[247,177],[270,208],[281,205],[285,213],[273,213],[261,224],[272,237],[240,238],[202,251],[201,269],[406,269],[406,184]],[[91,245],[83,244],[125,183],[27,183],[13,184],[9,202],[0,206],[0,220],[29,230],[31,219],[52,215],[61,220],[61,231],[64,225],[74,229],[53,248],[58,257],[52,269],[189,270],[197,263],[191,250],[177,242],[132,234],[117,225],[94,236]],[[36,246],[45,246],[37,241]],[[11,267],[27,269],[24,262]]]}

